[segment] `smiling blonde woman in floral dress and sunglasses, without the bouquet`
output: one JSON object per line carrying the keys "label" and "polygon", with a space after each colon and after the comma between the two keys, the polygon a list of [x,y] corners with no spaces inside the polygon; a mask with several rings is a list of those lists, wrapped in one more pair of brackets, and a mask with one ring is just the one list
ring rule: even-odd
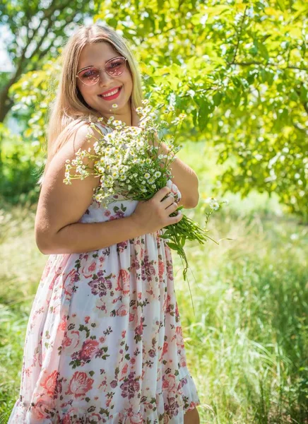
{"label": "smiling blonde woman in floral dress and sunglasses, without the bouquet", "polygon": [[142,93],[129,47],[107,26],[81,27],[62,65],[35,218],[37,247],[49,259],[8,424],[199,423],[172,257],[158,237],[182,219],[170,217],[180,204],[196,206],[198,178],[177,158],[169,187],[145,202],[114,197],[108,208],[93,200],[97,178],[64,184],[66,160],[100,136],[89,115],[109,118],[116,102],[117,119],[138,126]]}

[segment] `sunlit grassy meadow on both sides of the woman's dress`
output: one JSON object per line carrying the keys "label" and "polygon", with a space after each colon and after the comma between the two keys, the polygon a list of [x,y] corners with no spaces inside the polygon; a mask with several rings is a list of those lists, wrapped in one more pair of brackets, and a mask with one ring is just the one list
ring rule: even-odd
{"label": "sunlit grassy meadow on both sides of the woman's dress", "polygon": [[[203,224],[221,167],[206,143],[186,143],[179,157],[199,175],[199,205],[186,213]],[[308,423],[307,225],[275,196],[240,199],[230,190],[223,199],[229,204],[213,214],[208,234],[232,240],[186,245],[195,314],[173,254],[201,424]],[[25,330],[47,261],[35,245],[35,210],[0,210],[0,423],[18,398]]]}

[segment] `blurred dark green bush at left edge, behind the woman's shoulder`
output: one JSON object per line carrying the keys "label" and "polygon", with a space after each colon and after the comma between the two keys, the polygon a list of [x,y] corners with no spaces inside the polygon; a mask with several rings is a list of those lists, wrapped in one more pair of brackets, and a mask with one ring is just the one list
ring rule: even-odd
{"label": "blurred dark green bush at left edge, behind the woman's shoulder", "polygon": [[34,203],[40,187],[38,167],[42,166],[40,143],[23,141],[0,124],[0,192],[11,204]]}

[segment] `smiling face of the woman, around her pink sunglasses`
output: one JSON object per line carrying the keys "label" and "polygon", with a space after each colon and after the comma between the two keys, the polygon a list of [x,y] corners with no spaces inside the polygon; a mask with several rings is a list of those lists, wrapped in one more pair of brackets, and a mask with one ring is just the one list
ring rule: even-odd
{"label": "smiling face of the woman, around her pink sunglasses", "polygon": [[[109,42],[97,42],[83,47],[78,61],[77,73],[81,69],[93,66],[100,71],[100,80],[93,86],[86,86],[80,78],[76,78],[77,87],[83,96],[85,102],[94,110],[100,113],[102,117],[109,118],[117,115],[117,119],[131,125],[131,93],[133,90],[133,79],[129,71],[129,64],[126,61],[126,67],[119,76],[109,76],[102,68],[110,59],[122,56],[114,50]],[[119,93],[109,98],[102,95],[109,90],[121,88]],[[107,93],[106,93],[107,94]],[[118,107],[114,110],[112,105],[117,103]]]}

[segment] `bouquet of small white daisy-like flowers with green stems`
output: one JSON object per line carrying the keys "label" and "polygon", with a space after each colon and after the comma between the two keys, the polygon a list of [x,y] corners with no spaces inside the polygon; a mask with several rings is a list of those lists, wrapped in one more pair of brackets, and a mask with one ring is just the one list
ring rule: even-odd
{"label": "bouquet of small white daisy-like flowers with green stems", "polygon": [[[126,126],[124,122],[112,116],[106,123],[112,129],[112,132],[104,135],[95,123],[90,123],[90,127],[97,129],[102,137],[95,141],[94,152],[91,152],[90,148],[88,151],[79,149],[76,153],[76,159],[72,160],[71,163],[70,160],[66,160],[64,183],[71,184],[71,179],[84,179],[93,174],[100,176],[100,185],[93,194],[93,198],[102,202],[103,206],[112,202],[112,196],[115,194],[121,194],[124,199],[146,201],[159,189],[165,187],[172,178],[170,164],[181,146],[175,145],[174,137],[168,141],[162,136],[163,130],[169,126],[167,121],[158,119],[157,110],[163,105],[158,105],[155,112],[153,112],[153,107],[148,105],[148,100],[143,100],[143,105],[144,107],[136,109],[140,117],[139,126]],[[117,105],[112,105],[112,107],[115,109]],[[172,107],[171,110],[170,108],[168,110],[172,112]],[[172,124],[179,126],[185,117],[185,114],[180,114],[172,121]],[[100,118],[98,121],[104,122],[104,118]],[[87,137],[90,138],[92,135],[88,134]],[[167,155],[160,153],[161,143],[167,145],[169,150]],[[85,156],[94,159],[93,169],[83,164]],[[77,174],[71,175],[72,168],[76,169]],[[183,206],[179,206],[177,211],[182,208]],[[211,209],[212,212],[213,208]],[[177,211],[172,213],[171,216],[177,215]],[[206,216],[206,224],[211,212]],[[201,228],[198,223],[184,214],[182,220],[168,225],[164,230],[159,237],[167,239],[167,245],[176,250],[182,261],[184,260],[183,276],[186,280],[188,262],[184,252],[185,242],[186,240],[196,240],[203,244],[211,239],[206,234],[208,230]],[[215,243],[218,244],[218,242]]]}

